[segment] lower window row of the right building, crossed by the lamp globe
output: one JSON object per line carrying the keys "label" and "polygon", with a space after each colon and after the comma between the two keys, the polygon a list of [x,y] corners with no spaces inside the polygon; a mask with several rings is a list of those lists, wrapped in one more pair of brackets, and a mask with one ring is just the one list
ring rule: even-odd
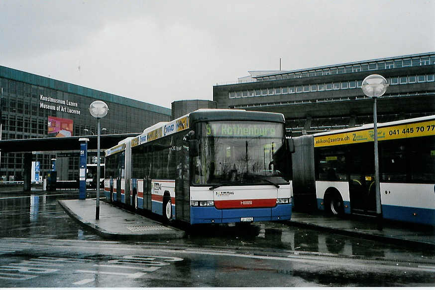
{"label": "lower window row of the right building, crossed by the lamp globe", "polygon": [[[411,75],[411,76],[397,76],[387,78],[390,85],[403,85],[412,83],[425,83],[433,82],[434,74],[427,75]],[[267,89],[254,89],[245,91],[231,91],[228,93],[230,99],[234,98],[247,98],[247,97],[261,97],[272,95],[284,95],[284,94],[297,94],[297,93],[309,93],[309,92],[322,92],[332,90],[346,90],[355,89],[361,87],[362,80],[344,81],[344,82],[330,82],[321,84],[308,84],[289,87],[277,87]]]}

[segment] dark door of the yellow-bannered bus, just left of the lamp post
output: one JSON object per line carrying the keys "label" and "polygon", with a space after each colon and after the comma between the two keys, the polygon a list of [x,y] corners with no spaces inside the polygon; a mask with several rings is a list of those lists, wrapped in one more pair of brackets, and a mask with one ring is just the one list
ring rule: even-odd
{"label": "dark door of the yellow-bannered bus, just left of the lamp post", "polygon": [[350,145],[347,151],[350,208],[354,213],[376,214],[373,143]]}

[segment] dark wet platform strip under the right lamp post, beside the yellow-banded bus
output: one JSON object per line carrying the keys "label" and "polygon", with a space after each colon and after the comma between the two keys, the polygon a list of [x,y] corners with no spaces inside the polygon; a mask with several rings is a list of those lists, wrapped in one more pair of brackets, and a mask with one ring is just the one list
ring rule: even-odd
{"label": "dark wet platform strip under the right lamp post, beside the yellow-banded bus", "polygon": [[379,225],[377,219],[370,216],[352,215],[340,218],[318,212],[293,211],[290,224],[371,240],[435,248],[434,227],[393,221],[382,221]]}

